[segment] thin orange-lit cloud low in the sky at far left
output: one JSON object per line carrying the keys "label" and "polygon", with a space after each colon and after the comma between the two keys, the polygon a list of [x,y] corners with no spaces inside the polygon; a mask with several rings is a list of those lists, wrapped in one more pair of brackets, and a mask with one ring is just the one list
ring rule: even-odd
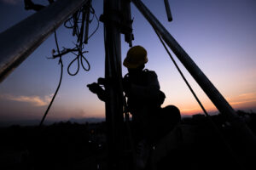
{"label": "thin orange-lit cloud low in the sky at far left", "polygon": [[13,101],[20,101],[20,102],[26,102],[29,104],[32,104],[34,106],[44,106],[44,105],[48,105],[51,99],[51,95],[46,95],[44,97],[40,97],[40,96],[14,96],[11,94],[5,94],[2,96],[2,98],[4,99],[9,99],[9,100],[13,100]]}

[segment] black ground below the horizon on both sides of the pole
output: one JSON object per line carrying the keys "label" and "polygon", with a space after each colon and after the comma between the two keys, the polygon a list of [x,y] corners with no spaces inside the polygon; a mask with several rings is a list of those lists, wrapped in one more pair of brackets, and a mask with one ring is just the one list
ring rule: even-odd
{"label": "black ground below the horizon on both sides of the pole", "polygon": [[[239,111],[256,132],[256,114]],[[222,116],[212,116],[232,147],[243,150]],[[180,144],[157,163],[158,169],[236,169],[224,141],[202,115],[183,118]],[[0,169],[105,169],[106,124],[60,122],[51,126],[0,128]],[[256,154],[255,154],[256,155]],[[255,159],[256,160],[256,159]],[[255,167],[252,167],[255,169]]]}

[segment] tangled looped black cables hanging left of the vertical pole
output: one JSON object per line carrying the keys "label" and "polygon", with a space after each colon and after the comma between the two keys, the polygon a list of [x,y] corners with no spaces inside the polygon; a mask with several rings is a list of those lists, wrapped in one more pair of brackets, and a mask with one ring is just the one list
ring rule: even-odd
{"label": "tangled looped black cables hanging left of the vertical pole", "polygon": [[[92,19],[90,19],[90,14],[93,14]],[[89,24],[92,22],[92,20],[94,20],[94,18],[96,18],[96,20],[97,20],[96,30],[93,31],[90,34],[90,36],[88,36]],[[74,48],[63,48],[63,50],[60,51],[58,41],[57,41],[57,36],[55,33],[55,43],[56,43],[56,48],[57,48],[58,53],[55,54],[55,50],[53,50],[53,56],[50,59],[55,59],[55,58],[60,59],[59,64],[61,64],[61,77],[60,77],[58,87],[55,90],[55,94],[54,94],[53,98],[51,99],[49,106],[48,106],[47,110],[45,111],[44,116],[40,122],[40,125],[39,125],[40,127],[43,125],[44,119],[47,116],[49,109],[55,99],[55,95],[58,93],[58,90],[61,87],[61,80],[62,80],[62,75],[63,75],[63,64],[62,64],[61,57],[65,54],[69,54],[69,53],[72,53],[76,56],[71,61],[71,63],[67,66],[67,72],[70,76],[75,76],[78,74],[79,68],[80,68],[80,63],[82,65],[84,71],[90,71],[90,63],[84,57],[84,54],[88,53],[88,51],[84,50],[84,43],[87,44],[88,39],[90,37],[92,37],[95,34],[95,32],[97,31],[97,29],[99,28],[99,20],[95,14],[94,8],[92,8],[92,6],[91,6],[91,0],[88,3],[86,3],[82,8],[80,8],[75,14],[73,14],[72,17],[70,17],[68,20],[66,20],[64,23],[64,26],[68,29],[73,29],[73,37],[77,37],[77,42],[74,42],[74,45],[75,45]],[[69,70],[70,70],[71,65],[73,65],[73,63],[75,61],[78,62],[78,67],[77,67],[77,70],[74,73],[72,73]],[[84,61],[87,64],[87,68],[84,66]]]}

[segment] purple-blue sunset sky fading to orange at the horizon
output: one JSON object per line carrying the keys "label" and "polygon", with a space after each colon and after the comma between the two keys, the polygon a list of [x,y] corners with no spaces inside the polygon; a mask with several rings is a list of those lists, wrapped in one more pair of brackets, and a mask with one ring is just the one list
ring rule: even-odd
{"label": "purple-blue sunset sky fading to orange at the horizon", "polygon": [[[34,3],[47,4],[46,0]],[[168,22],[164,1],[143,0],[143,3],[166,26],[189,56],[218,88],[234,109],[256,111],[256,1],[255,0],[169,0],[173,21]],[[93,0],[97,16],[102,14],[103,1]],[[24,9],[23,0],[0,0],[0,32],[26,19],[33,11]],[[156,71],[160,88],[166,94],[165,105],[177,105],[183,116],[201,113],[189,88],[186,87],[172,60],[166,54],[154,30],[137,8],[131,5],[134,17],[134,45],[148,50],[148,70]],[[96,28],[96,20],[90,32]],[[72,31],[61,26],[57,30],[60,47],[73,47]],[[29,58],[0,84],[0,122],[40,120],[49,105],[60,77],[58,59],[47,59],[55,48],[50,36]],[[70,118],[104,117],[104,103],[91,94],[86,84],[104,77],[103,24],[85,46],[90,71],[80,70],[71,77],[67,65],[73,55],[63,57],[64,75],[59,94],[47,120],[67,121]],[[122,60],[129,49],[122,35]],[[1,56],[0,56],[1,57]],[[207,111],[217,111],[188,71],[183,68],[195,93]],[[75,66],[75,65],[73,65]],[[73,68],[74,69],[74,68]],[[123,68],[123,75],[127,73]]]}

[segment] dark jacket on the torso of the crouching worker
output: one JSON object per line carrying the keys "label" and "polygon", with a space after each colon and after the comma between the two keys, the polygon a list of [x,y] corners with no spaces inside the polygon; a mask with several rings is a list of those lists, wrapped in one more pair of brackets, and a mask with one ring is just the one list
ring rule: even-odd
{"label": "dark jacket on the torso of the crouching worker", "polygon": [[159,108],[166,98],[166,95],[160,91],[158,77],[154,71],[146,69],[132,77],[128,73],[124,77],[124,83],[124,87],[129,87],[124,90],[131,114],[153,111]]}

